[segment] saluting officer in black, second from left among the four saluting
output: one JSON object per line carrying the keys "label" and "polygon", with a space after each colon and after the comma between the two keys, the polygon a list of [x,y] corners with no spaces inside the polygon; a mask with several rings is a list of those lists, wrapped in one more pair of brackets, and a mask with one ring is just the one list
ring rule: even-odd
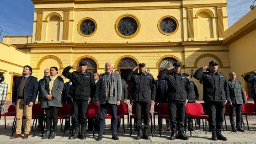
{"label": "saluting officer in black, second from left among the four saluting", "polygon": [[[138,69],[138,66],[129,71],[126,81],[133,82],[131,97],[136,106],[136,121],[138,135],[136,139],[141,139],[141,110],[144,112],[144,131],[143,138],[149,139],[148,127],[149,127],[149,113],[151,104],[155,100],[155,79],[153,75],[146,72],[146,64],[139,64],[139,73],[134,73]],[[132,103],[131,103],[132,104]]]}

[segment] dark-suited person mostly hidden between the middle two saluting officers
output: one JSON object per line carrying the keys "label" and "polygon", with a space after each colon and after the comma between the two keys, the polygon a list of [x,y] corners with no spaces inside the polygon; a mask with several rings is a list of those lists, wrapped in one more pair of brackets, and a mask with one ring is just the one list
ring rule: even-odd
{"label": "dark-suited person mostly hidden between the middle two saluting officers", "polygon": [[[157,107],[160,107],[161,103],[168,102],[167,89],[168,89],[167,81],[161,80],[158,77],[158,80],[155,80],[155,91],[156,91],[155,92],[155,105],[157,105]],[[170,119],[165,119],[165,123],[167,126],[167,131],[171,131]],[[158,114],[158,125],[159,125],[159,128],[162,128],[163,119],[160,118],[160,114]]]}

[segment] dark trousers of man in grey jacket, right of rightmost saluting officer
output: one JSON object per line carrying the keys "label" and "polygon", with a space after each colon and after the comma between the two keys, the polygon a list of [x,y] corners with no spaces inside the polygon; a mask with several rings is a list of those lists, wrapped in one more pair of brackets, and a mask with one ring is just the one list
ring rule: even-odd
{"label": "dark trousers of man in grey jacket, right of rightmost saluting officer", "polygon": [[[233,103],[232,103],[233,104]],[[242,104],[233,104],[230,107],[229,119],[232,128],[241,128],[242,126],[242,119],[241,119],[241,111],[242,111]],[[234,117],[236,115],[236,127],[235,127],[235,120]]]}

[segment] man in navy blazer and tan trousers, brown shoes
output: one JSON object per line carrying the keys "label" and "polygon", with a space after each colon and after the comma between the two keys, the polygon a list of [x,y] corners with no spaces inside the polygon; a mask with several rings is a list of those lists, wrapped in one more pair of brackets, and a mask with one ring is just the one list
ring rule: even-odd
{"label": "man in navy blazer and tan trousers, brown shoes", "polygon": [[32,67],[25,65],[21,77],[17,78],[12,89],[12,104],[16,106],[16,134],[11,139],[21,137],[23,111],[26,116],[25,134],[22,139],[28,138],[32,119],[32,106],[37,99],[38,82],[32,76]]}

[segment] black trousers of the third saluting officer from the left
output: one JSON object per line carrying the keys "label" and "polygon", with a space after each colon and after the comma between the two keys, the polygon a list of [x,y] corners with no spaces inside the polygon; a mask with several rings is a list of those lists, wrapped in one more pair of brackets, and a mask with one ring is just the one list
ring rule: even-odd
{"label": "black trousers of the third saluting officer from the left", "polygon": [[168,109],[171,117],[171,132],[184,132],[185,101],[169,101]]}

